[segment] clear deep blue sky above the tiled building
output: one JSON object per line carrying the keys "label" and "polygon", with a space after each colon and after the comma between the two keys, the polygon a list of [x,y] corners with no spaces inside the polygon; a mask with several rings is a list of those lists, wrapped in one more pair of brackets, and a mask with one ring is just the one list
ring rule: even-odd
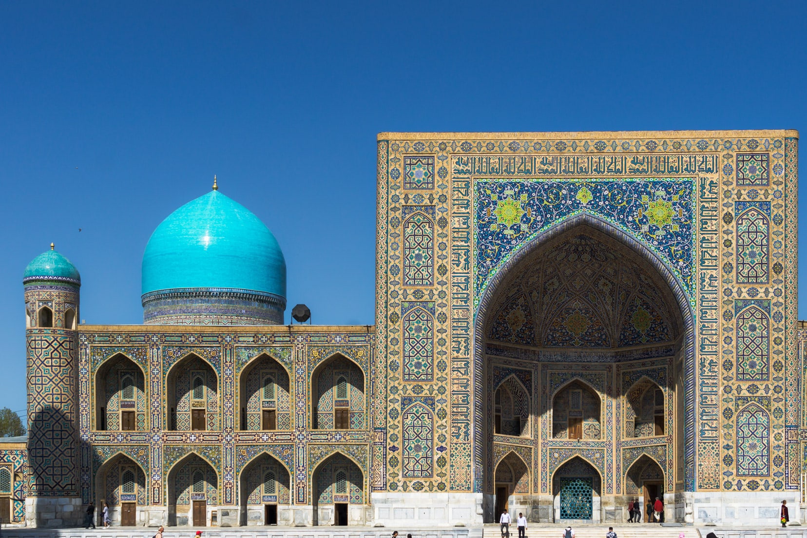
{"label": "clear deep blue sky above the tiled building", "polygon": [[290,306],[374,323],[378,131],[804,131],[805,11],[2,2],[0,407],[25,407],[21,279],[51,241],[82,319],[140,323],[148,236],[215,173],[277,236]]}

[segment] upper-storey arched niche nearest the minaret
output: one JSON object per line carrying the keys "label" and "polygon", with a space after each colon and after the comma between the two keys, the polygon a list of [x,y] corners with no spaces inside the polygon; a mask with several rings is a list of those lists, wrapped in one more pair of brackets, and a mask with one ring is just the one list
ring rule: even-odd
{"label": "upper-storey arched niche nearest the minaret", "polygon": [[148,430],[148,398],[143,369],[123,353],[103,361],[95,373],[95,429]]}

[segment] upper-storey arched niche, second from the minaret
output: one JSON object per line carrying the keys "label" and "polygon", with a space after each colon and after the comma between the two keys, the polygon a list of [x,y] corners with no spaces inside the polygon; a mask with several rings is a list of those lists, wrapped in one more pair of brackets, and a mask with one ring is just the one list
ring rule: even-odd
{"label": "upper-storey arched niche, second from the minaret", "polygon": [[203,358],[191,353],[166,376],[169,430],[199,432],[220,428],[219,376]]}

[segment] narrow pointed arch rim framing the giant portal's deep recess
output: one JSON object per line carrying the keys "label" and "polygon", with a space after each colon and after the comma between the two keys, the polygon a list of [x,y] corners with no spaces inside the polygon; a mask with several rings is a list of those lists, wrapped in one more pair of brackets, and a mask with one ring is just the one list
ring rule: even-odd
{"label": "narrow pointed arch rim framing the giant portal's deep recess", "polygon": [[[683,442],[676,443],[679,453],[675,457],[679,461],[684,461],[684,488],[694,490],[695,484],[695,394],[693,390],[683,390],[684,387],[691,387],[695,382],[695,353],[694,353],[694,324],[692,305],[689,302],[688,291],[672,269],[667,266],[667,262],[643,244],[637,237],[631,235],[619,227],[598,215],[583,212],[578,215],[568,217],[554,223],[546,230],[537,233],[530,240],[516,248],[501,265],[491,271],[491,277],[487,286],[482,290],[475,312],[475,340],[474,340],[474,373],[473,386],[475,387],[475,407],[474,419],[476,423],[482,424],[474,432],[473,470],[472,476],[482,477],[482,480],[473,482],[475,491],[487,493],[491,491],[491,463],[488,454],[492,450],[492,417],[486,415],[486,404],[490,400],[486,398],[484,391],[487,385],[483,382],[486,372],[486,339],[487,327],[491,323],[494,315],[495,299],[498,294],[508,286],[508,275],[512,274],[522,261],[527,261],[529,256],[540,252],[542,248],[549,248],[562,240],[567,234],[573,231],[592,230],[592,236],[602,236],[611,242],[617,242],[629,248],[636,255],[636,261],[651,267],[654,273],[658,274],[659,281],[663,281],[667,286],[660,286],[659,291],[669,301],[671,311],[671,323],[675,331],[675,353],[680,357],[681,366],[676,366],[675,386],[683,392],[680,398],[680,411],[683,419],[679,421],[680,435]],[[540,322],[539,322],[540,323]],[[677,359],[676,359],[677,361]],[[597,393],[599,396],[599,392]],[[676,400],[677,402],[677,400]],[[491,414],[492,415],[492,414]]]}

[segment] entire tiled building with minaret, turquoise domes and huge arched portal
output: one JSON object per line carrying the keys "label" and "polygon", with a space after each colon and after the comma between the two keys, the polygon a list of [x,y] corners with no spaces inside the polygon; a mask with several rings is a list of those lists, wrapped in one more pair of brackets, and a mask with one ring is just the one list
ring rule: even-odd
{"label": "entire tiled building with minaret, turquoise domes and huge arched portal", "polygon": [[90,500],[121,525],[621,522],[656,496],[667,521],[799,519],[797,144],[383,133],[374,327],[282,325],[278,242],[215,187],[149,240],[144,325],[78,324],[79,273],[44,252],[4,503],[36,526]]}

